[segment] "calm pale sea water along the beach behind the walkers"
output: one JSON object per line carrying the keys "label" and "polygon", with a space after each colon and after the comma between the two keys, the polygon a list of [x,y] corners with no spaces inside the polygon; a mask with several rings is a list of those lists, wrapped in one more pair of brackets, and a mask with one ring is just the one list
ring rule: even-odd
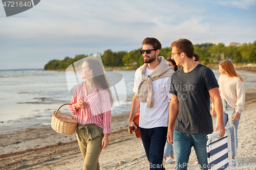
{"label": "calm pale sea water along the beach behind the walkers", "polygon": [[[212,71],[218,79],[218,69]],[[244,78],[245,86],[256,85],[254,72],[238,70],[238,73]],[[129,114],[134,95],[135,71],[118,71],[118,74],[122,75],[122,84],[115,83],[116,91],[112,87],[116,100],[111,111],[113,116]],[[115,81],[113,77],[111,80]],[[72,91],[68,87],[66,71],[0,71],[0,131],[7,131],[10,126],[18,129],[50,125],[53,112],[62,104],[70,103],[71,99]],[[63,106],[60,111],[70,113],[68,106]]]}

